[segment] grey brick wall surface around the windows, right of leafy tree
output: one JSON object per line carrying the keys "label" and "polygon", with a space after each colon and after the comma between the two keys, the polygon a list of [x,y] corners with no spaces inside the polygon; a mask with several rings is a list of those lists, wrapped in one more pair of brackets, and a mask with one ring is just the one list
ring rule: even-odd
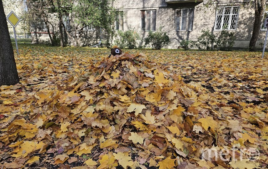
{"label": "grey brick wall surface around the windows, right of leafy tree", "polygon": [[[216,36],[221,31],[214,30],[216,20],[216,7],[219,6],[240,6],[236,30],[228,30],[236,35],[234,48],[247,48],[251,39],[254,24],[254,3],[236,3],[241,1],[221,1],[207,9],[203,2],[184,1],[180,3],[166,3],[165,0],[116,0],[112,5],[124,12],[124,30],[130,27],[136,28],[145,38],[148,31],[141,30],[141,10],[156,10],[156,29],[164,26],[171,39],[167,48],[177,48],[183,39],[196,40],[202,29],[209,29]],[[206,4],[206,1],[205,1]],[[175,10],[179,8],[194,8],[193,28],[191,31],[175,31]],[[257,46],[265,38],[266,31],[260,31]],[[140,43],[141,44],[141,43]],[[258,46],[261,48],[261,46]]]}

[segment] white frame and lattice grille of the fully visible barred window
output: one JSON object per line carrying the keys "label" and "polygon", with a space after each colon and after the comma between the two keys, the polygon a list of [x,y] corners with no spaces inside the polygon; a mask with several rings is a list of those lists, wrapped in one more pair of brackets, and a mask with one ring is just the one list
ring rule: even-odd
{"label": "white frame and lattice grille of the fully visible barred window", "polygon": [[[233,12],[233,8],[234,7],[238,7],[238,9],[237,9],[237,17],[236,17],[236,27],[235,27],[235,29],[230,29],[230,26],[231,26],[231,19],[229,19],[229,23],[228,23],[228,28],[227,29],[222,29],[222,27],[223,27],[223,19],[224,19],[224,16],[225,16],[225,9],[226,8],[228,8],[228,7],[231,7],[231,12],[230,12],[230,14],[229,14],[229,17],[231,17],[233,14],[232,14],[232,12]],[[217,25],[217,18],[218,18],[218,9],[219,8],[224,8],[223,9],[223,14],[222,14],[222,18],[221,18],[221,29],[216,29],[216,25]],[[219,7],[217,7],[217,10],[216,10],[216,18],[215,18],[215,25],[214,25],[214,30],[215,31],[222,31],[222,30],[236,30],[236,28],[237,28],[237,23],[238,23],[238,17],[239,17],[239,11],[240,11],[240,6],[219,6]]]}

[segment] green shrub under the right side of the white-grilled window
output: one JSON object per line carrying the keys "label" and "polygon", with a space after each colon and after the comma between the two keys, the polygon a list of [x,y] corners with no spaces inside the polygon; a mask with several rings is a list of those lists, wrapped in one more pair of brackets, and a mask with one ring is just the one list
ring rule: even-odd
{"label": "green shrub under the right side of the white-grilled window", "polygon": [[219,50],[229,51],[235,44],[235,33],[222,30],[219,38],[216,40],[216,45]]}

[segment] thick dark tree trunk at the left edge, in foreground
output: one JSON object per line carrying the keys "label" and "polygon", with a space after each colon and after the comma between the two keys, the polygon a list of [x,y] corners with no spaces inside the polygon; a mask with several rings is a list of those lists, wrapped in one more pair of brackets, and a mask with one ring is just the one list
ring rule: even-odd
{"label": "thick dark tree trunk at the left edge, in foreground", "polygon": [[19,76],[2,0],[0,0],[0,23],[0,86],[15,85],[19,82]]}

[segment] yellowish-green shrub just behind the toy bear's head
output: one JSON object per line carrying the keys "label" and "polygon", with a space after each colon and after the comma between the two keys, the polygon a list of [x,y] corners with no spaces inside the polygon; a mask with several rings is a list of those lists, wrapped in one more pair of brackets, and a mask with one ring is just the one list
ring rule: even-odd
{"label": "yellowish-green shrub just behind the toy bear's head", "polygon": [[121,49],[128,48],[134,49],[137,46],[137,41],[140,40],[140,35],[134,29],[127,31],[118,30],[115,34],[114,43]]}

